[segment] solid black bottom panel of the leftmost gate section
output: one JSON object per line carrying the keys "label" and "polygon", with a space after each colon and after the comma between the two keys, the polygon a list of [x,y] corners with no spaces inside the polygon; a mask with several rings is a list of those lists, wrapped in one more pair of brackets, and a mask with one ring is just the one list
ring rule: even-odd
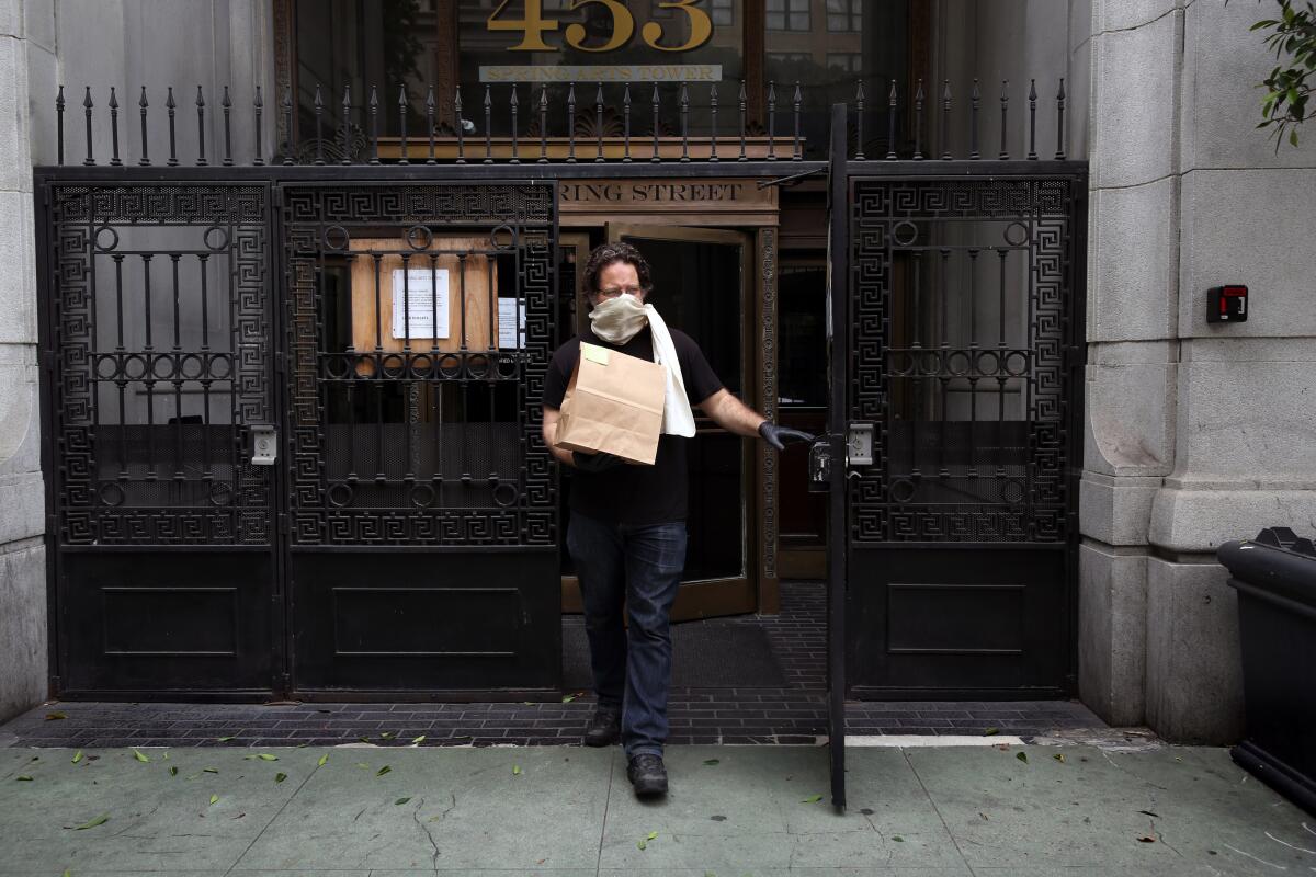
{"label": "solid black bottom panel of the leftmost gate section", "polygon": [[68,551],[62,697],[268,697],[274,563],[263,551]]}

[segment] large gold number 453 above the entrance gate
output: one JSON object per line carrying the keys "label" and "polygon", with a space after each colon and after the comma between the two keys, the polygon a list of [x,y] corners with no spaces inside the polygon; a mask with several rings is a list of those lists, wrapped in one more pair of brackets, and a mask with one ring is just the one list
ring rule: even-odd
{"label": "large gold number 453 above the entrance gate", "polygon": [[[484,26],[488,30],[520,32],[521,42],[512,46],[512,51],[553,51],[553,46],[544,42],[544,33],[546,30],[557,30],[561,22],[544,17],[542,0],[525,0],[525,12],[520,18],[500,17],[503,11],[507,9],[508,3],[511,0],[503,0],[497,5],[497,9],[488,17]],[[640,29],[640,36],[645,43],[658,51],[690,51],[708,42],[713,36],[713,21],[708,17],[707,12],[695,5],[696,3],[699,0],[666,0],[658,4],[663,9],[680,9],[686,13],[686,17],[690,20],[690,38],[686,42],[679,46],[662,45],[662,25],[657,21],[647,21]],[[604,7],[612,16],[612,33],[608,39],[599,46],[587,46],[584,45],[584,25],[570,24],[565,32],[567,45],[580,51],[615,51],[630,42],[630,38],[636,33],[636,17],[630,14],[630,9],[621,0],[571,0],[571,11],[574,12],[595,4]]]}

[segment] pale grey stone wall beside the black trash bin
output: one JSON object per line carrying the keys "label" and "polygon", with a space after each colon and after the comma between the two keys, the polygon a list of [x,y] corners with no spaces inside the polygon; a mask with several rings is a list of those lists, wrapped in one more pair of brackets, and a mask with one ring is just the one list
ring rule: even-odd
{"label": "pale grey stone wall beside the black trash bin", "polygon": [[[1080,692],[1177,742],[1242,732],[1215,550],[1316,529],[1316,153],[1254,129],[1271,4],[1095,0]],[[1207,289],[1252,289],[1246,323]]]}

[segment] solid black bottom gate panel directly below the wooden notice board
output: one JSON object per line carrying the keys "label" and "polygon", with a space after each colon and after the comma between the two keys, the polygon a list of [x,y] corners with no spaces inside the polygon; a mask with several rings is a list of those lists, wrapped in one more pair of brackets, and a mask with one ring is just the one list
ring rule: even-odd
{"label": "solid black bottom gate panel directly below the wooden notice board", "polygon": [[292,685],[308,699],[561,690],[557,551],[295,551]]}

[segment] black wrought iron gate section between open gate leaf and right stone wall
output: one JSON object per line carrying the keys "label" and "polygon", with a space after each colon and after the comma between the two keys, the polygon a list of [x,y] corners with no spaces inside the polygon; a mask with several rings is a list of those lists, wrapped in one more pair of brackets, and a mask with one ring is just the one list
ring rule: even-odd
{"label": "black wrought iron gate section between open gate leaf and right stone wall", "polygon": [[1086,164],[832,168],[845,689],[1071,693]]}

